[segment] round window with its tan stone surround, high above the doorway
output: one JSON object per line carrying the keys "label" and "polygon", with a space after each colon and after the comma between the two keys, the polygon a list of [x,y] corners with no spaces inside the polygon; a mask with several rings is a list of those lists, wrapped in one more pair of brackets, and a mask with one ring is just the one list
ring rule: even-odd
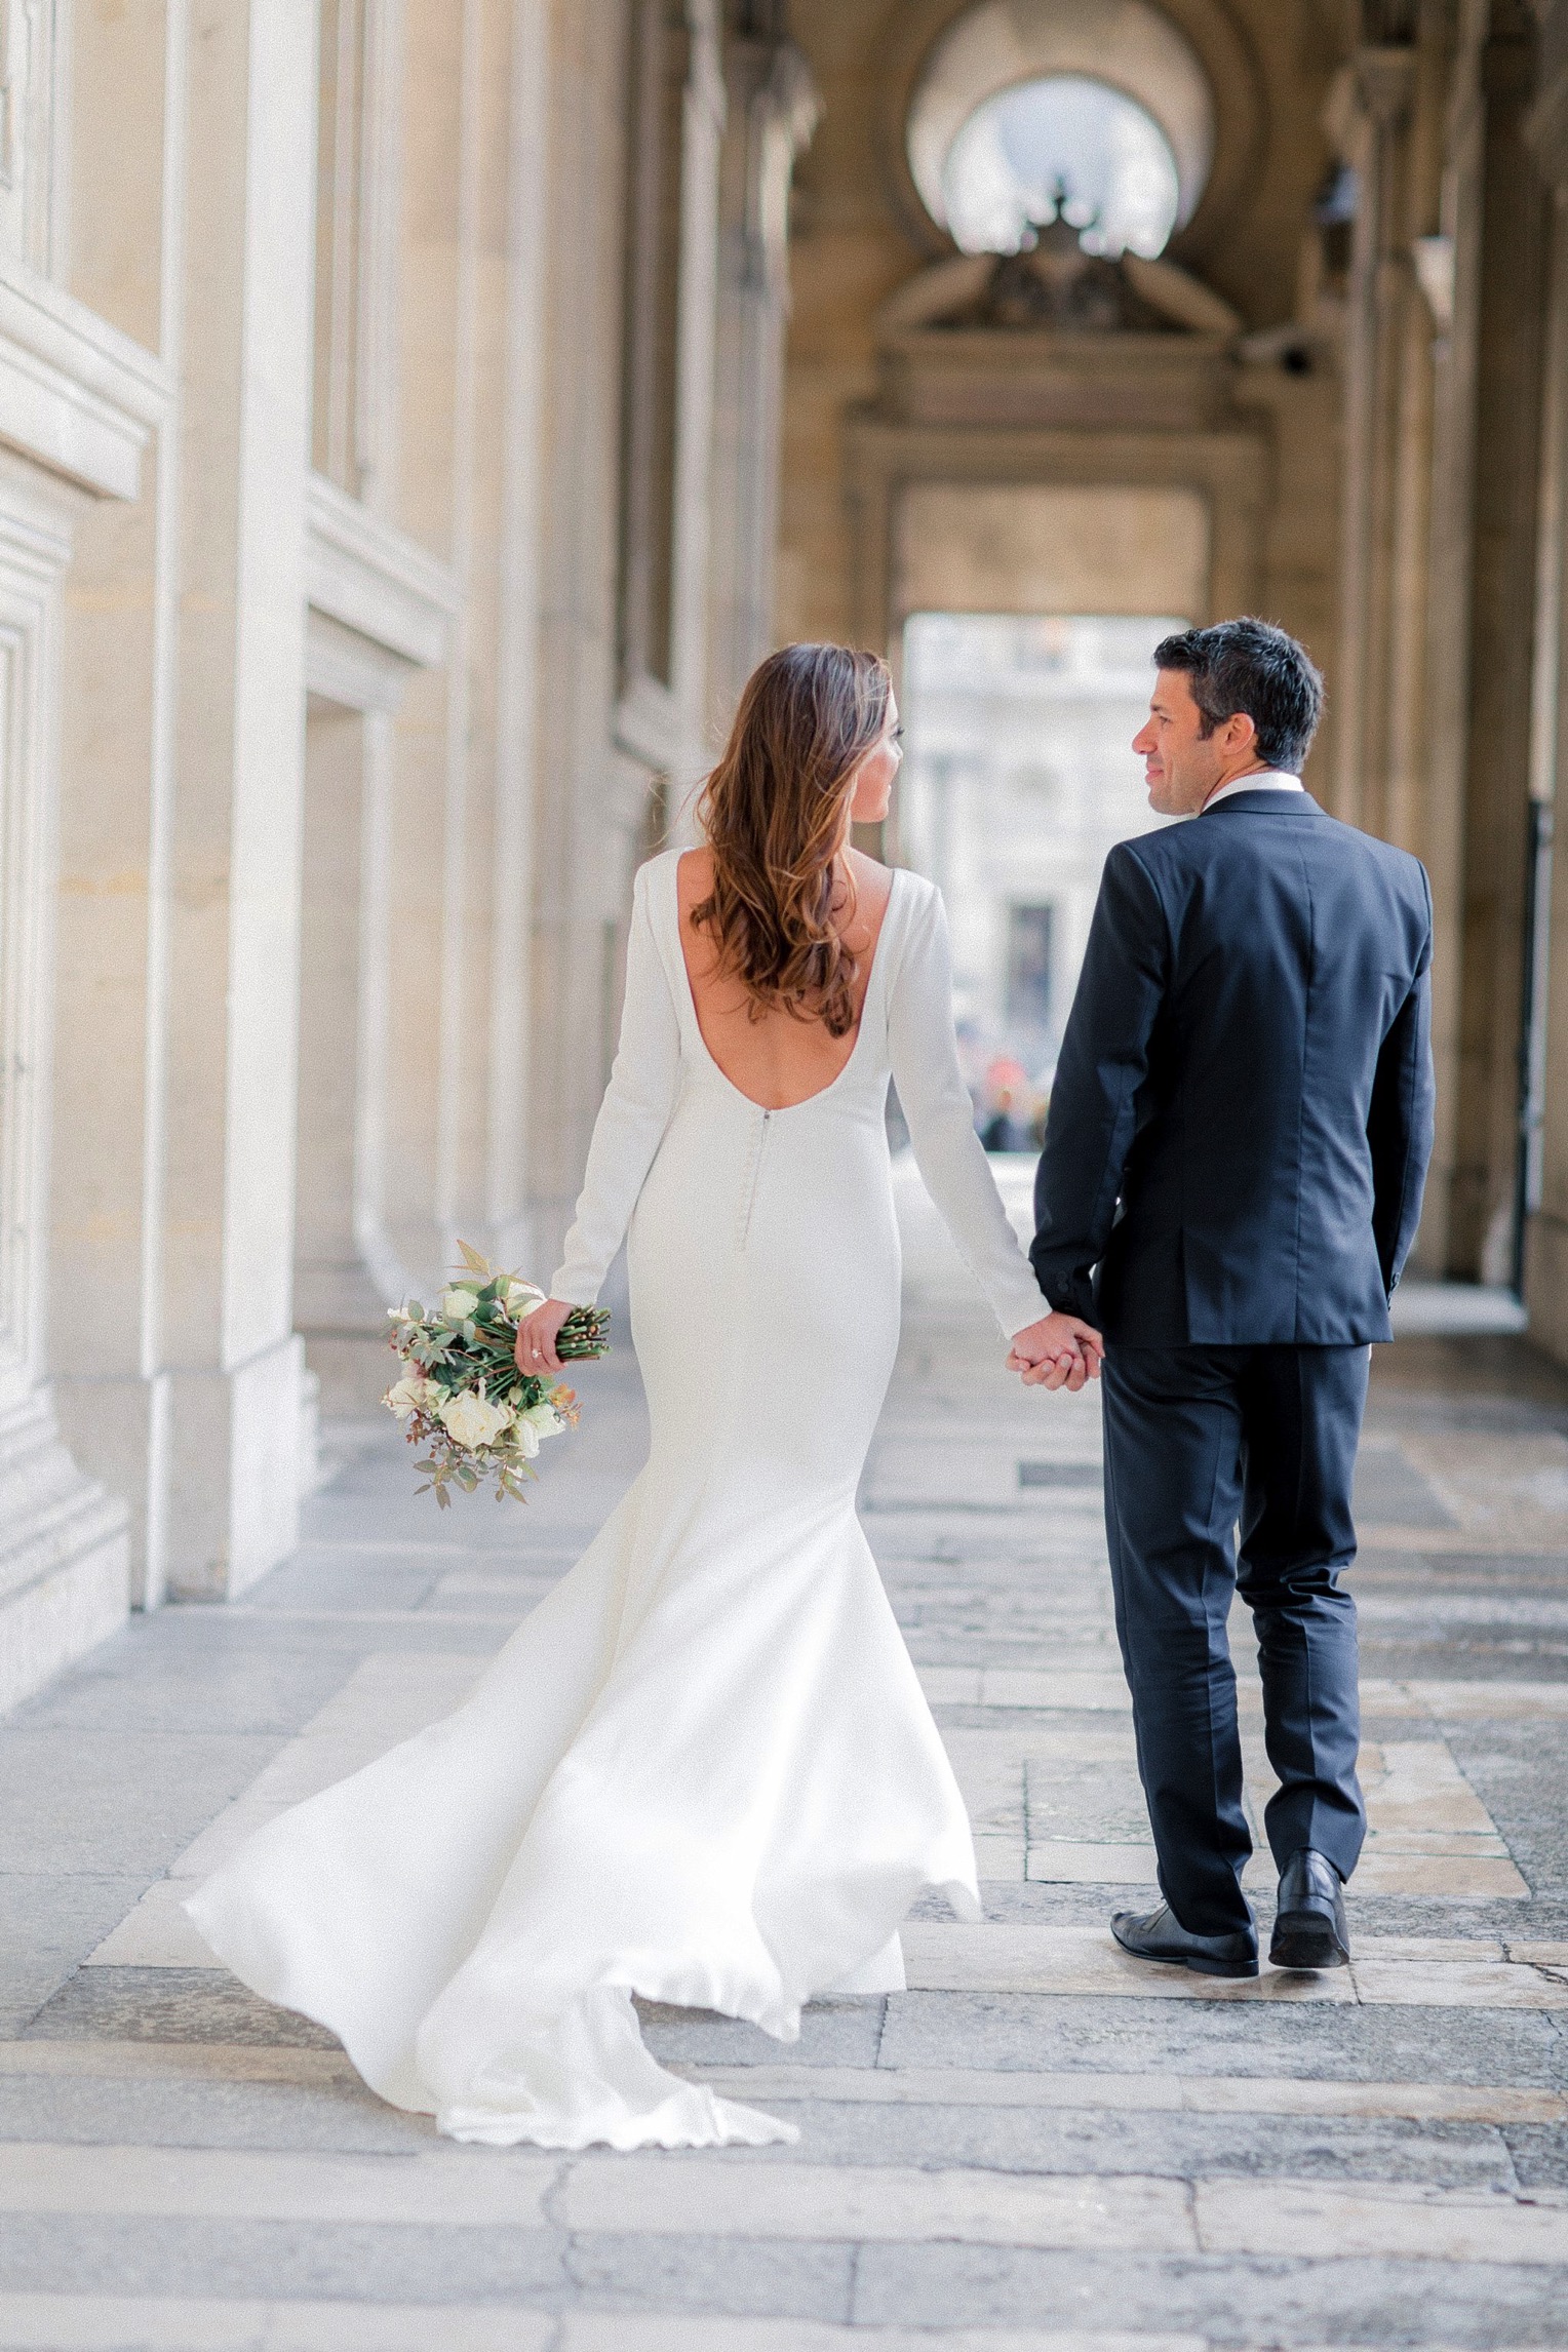
{"label": "round window with its tan stone surround, high above the doorway", "polygon": [[1091,252],[1154,256],[1197,212],[1215,101],[1152,0],[978,0],[926,52],[905,148],[964,252],[1016,252],[1060,209]]}

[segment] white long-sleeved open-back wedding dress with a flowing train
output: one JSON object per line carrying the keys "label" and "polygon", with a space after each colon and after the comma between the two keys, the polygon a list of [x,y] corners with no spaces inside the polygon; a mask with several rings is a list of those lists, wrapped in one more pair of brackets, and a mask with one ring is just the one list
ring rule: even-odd
{"label": "white long-sleeved open-back wedding dress with a flowing train", "polygon": [[940,898],[893,877],[849,1063],[759,1110],[703,1044],[675,868],[637,875],[621,1051],[550,1282],[590,1305],[630,1235],[646,1468],[456,1715],[188,1903],[247,1985],[461,2140],[795,2138],[658,2067],[632,1994],[792,2042],[811,1994],[903,1985],[922,1889],[978,1917],[856,1519],[898,1345],[889,1075],[1004,1334],[1044,1312],[973,1134]]}

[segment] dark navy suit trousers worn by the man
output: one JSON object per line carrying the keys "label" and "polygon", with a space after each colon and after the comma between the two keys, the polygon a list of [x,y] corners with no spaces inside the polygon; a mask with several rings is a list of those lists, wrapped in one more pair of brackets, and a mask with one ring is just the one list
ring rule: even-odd
{"label": "dark navy suit trousers worn by the man", "polygon": [[[1105,1357],[1105,1526],[1117,1637],[1159,1886],[1194,1936],[1246,1926],[1237,1677],[1225,1621],[1253,1611],[1284,1867],[1316,1846],[1342,1877],[1356,1783],[1356,1552],[1349,1489],[1368,1348],[1119,1348]],[[1237,1545],[1239,1529],[1239,1545]]]}

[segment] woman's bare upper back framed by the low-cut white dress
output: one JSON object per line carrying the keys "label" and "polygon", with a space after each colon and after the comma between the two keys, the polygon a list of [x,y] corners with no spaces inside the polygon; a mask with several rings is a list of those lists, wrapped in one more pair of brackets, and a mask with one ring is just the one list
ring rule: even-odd
{"label": "woman's bare upper back framed by the low-cut white dress", "polygon": [[733,974],[726,974],[715,955],[712,934],[691,922],[691,908],[701,906],[712,889],[712,856],[708,849],[689,849],[679,861],[675,882],[679,894],[682,955],[691,981],[703,1044],[717,1061],[724,1077],[762,1110],[788,1110],[806,1103],[823,1087],[830,1087],[856,1049],[860,1007],[872,976],[882,917],[893,891],[893,875],[886,866],[846,851],[856,884],[853,906],[846,908],[844,943],[858,960],[853,1004],[856,1028],[835,1037],[825,1021],[799,1021],[795,1014],[769,1011],[759,1018],[750,1011],[750,1000]]}

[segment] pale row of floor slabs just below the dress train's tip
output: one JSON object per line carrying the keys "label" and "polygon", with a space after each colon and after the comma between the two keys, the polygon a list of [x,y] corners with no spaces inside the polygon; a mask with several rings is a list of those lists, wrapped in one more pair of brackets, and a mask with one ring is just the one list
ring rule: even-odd
{"label": "pale row of floor slabs just below the dress train's tip", "polygon": [[1436,2260],[1568,2270],[1568,2194],[1469,2197],[1324,2180],[1168,2180],[736,2161],[682,2152],[402,2157],[0,2143],[0,2213],[752,2244],[964,2244],[1058,2253]]}

